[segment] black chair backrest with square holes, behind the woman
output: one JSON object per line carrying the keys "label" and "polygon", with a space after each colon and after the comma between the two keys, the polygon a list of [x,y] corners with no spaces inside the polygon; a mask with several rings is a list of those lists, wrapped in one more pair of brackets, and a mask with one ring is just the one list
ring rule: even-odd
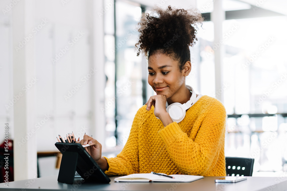
{"label": "black chair backrest with square holes, behind the woman", "polygon": [[226,176],[252,176],[253,158],[225,157]]}

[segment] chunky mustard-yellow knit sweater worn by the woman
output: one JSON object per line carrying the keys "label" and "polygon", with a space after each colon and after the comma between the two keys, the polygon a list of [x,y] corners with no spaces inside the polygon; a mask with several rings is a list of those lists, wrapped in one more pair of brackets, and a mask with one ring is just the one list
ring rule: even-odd
{"label": "chunky mustard-yellow knit sweater worn by the woman", "polygon": [[166,127],[154,107],[136,113],[125,147],[115,158],[106,158],[107,175],[134,173],[226,176],[224,156],[226,111],[223,104],[203,95],[185,118]]}

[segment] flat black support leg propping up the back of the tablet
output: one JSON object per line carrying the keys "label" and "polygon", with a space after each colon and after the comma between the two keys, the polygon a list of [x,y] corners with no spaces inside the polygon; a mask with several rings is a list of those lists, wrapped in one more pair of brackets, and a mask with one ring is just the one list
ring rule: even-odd
{"label": "flat black support leg propping up the back of the tablet", "polygon": [[63,153],[58,175],[58,182],[73,184],[77,161],[78,153],[68,151]]}

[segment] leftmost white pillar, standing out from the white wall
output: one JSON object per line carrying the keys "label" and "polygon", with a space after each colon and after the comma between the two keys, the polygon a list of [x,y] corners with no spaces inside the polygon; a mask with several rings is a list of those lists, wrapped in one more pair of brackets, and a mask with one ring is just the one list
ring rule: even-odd
{"label": "leftmost white pillar, standing out from the white wall", "polygon": [[[22,0],[12,8],[13,38],[13,95],[21,97],[14,103],[14,180],[37,178],[37,143],[36,136],[26,137],[35,125],[35,76],[34,38],[16,50],[19,43],[25,43],[34,24],[34,0]],[[32,84],[26,91],[23,87]],[[34,81],[33,81],[34,83]],[[22,144],[20,144],[22,143]]]}

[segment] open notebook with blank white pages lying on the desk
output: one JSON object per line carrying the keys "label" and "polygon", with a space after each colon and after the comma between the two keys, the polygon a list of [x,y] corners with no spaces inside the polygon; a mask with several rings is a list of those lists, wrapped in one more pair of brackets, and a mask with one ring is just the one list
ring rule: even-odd
{"label": "open notebook with blank white pages lying on the desk", "polygon": [[169,176],[172,176],[174,178],[168,178],[168,177],[159,176],[159,175],[151,174],[151,173],[130,174],[127,176],[121,176],[121,177],[115,178],[114,181],[115,182],[192,182],[192,181],[203,178],[203,176],[181,175],[181,174],[172,174]]}

